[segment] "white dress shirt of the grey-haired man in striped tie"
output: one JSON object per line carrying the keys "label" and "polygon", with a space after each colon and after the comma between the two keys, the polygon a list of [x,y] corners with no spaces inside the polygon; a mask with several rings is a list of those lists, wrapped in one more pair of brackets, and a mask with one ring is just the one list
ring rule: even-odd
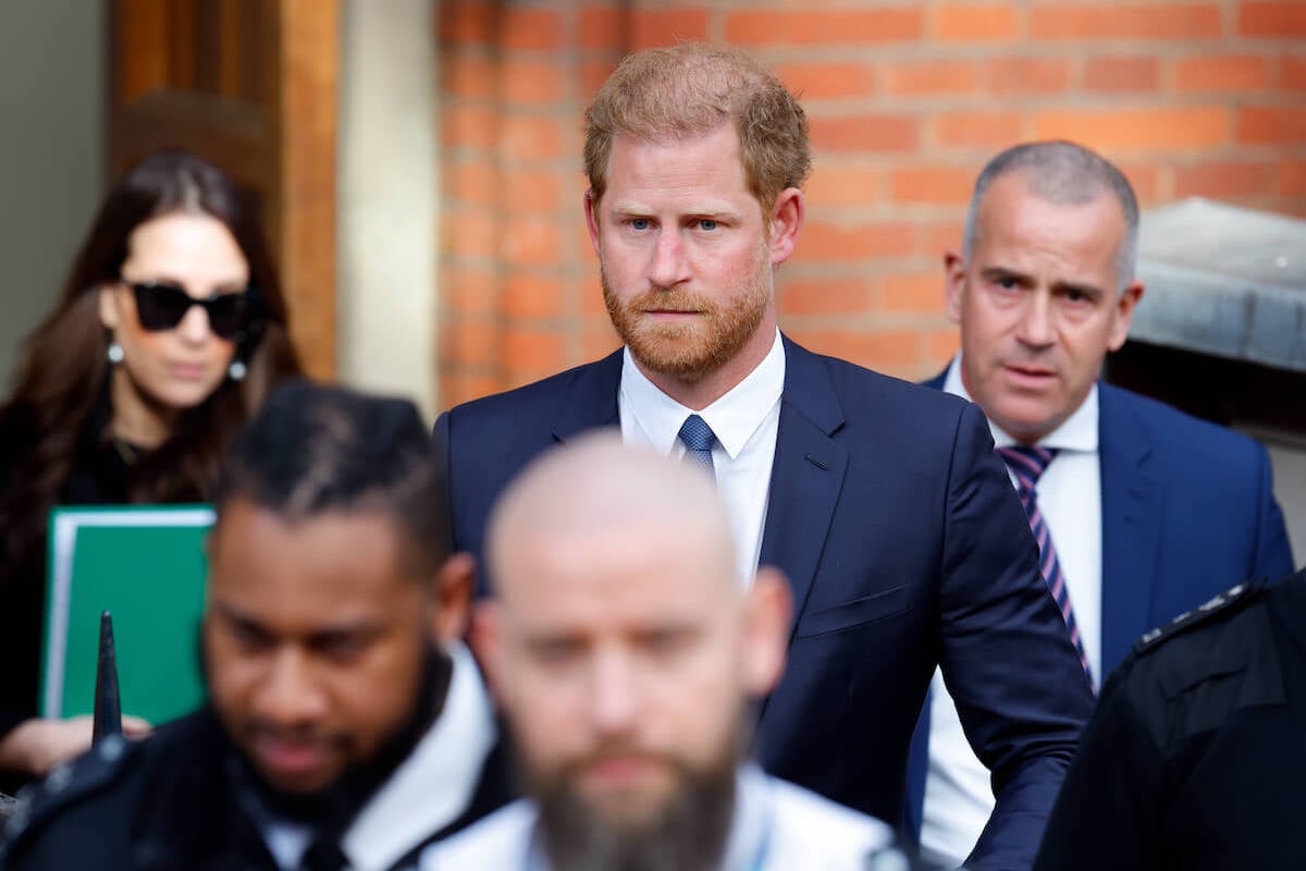
{"label": "white dress shirt of the grey-haired man in striped tie", "polygon": [[[961,381],[961,356],[948,367],[943,389],[969,400]],[[1038,441],[1057,456],[1034,486],[1071,607],[1079,624],[1093,682],[1102,682],[1102,466],[1097,451],[1097,385],[1084,404]],[[991,420],[994,444],[1016,440]],[[1016,481],[1012,475],[1012,486]],[[993,814],[989,770],[961,730],[957,708],[938,669],[930,683],[930,768],[925,781],[921,850],[931,862],[959,866],[969,855]]]}

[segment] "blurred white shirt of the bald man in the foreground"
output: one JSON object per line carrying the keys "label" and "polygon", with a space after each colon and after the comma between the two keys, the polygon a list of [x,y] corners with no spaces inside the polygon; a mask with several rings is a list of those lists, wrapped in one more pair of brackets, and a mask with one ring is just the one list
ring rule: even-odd
{"label": "blurred white shirt of the bald man in the foreground", "polygon": [[[755,765],[741,769],[721,871],[862,871],[893,832]],[[538,811],[518,800],[422,851],[419,871],[546,871]],[[904,866],[905,867],[905,866]]]}

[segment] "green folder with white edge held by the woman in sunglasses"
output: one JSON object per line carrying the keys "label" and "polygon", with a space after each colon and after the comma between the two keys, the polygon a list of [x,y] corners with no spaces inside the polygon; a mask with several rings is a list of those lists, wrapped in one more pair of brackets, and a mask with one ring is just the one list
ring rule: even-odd
{"label": "green folder with white edge held by the woman in sunglasses", "polygon": [[50,515],[40,712],[89,714],[99,615],[114,618],[123,713],[154,725],[200,705],[209,505],[77,507]]}

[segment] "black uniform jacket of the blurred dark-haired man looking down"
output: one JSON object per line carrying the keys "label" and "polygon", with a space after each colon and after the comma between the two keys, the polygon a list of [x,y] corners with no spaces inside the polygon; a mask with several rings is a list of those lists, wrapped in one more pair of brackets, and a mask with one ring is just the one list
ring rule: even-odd
{"label": "black uniform jacket of the blurred dark-haired man looking down", "polygon": [[[0,868],[278,871],[256,823],[255,795],[242,785],[235,761],[209,710],[168,723],[144,742],[106,739],[24,791],[0,846]],[[414,844],[392,867],[413,867],[426,845],[507,798],[503,753],[495,750],[462,816]]]}

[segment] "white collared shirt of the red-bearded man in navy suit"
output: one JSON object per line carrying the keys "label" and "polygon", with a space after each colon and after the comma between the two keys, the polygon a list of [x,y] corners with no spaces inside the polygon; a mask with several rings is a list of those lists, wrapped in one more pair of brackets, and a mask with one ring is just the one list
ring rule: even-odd
{"label": "white collared shirt of the red-bearded man in navy suit", "polygon": [[[735,565],[747,582],[757,571],[761,531],[771,494],[771,467],[780,430],[780,394],[785,389],[785,345],[776,341],[767,356],[725,396],[697,411],[717,436],[712,465],[717,492],[726,505],[735,541]],[[679,439],[684,419],[695,411],[660,390],[639,370],[626,349],[616,393],[622,440],[648,445],[667,457],[683,457]]]}

